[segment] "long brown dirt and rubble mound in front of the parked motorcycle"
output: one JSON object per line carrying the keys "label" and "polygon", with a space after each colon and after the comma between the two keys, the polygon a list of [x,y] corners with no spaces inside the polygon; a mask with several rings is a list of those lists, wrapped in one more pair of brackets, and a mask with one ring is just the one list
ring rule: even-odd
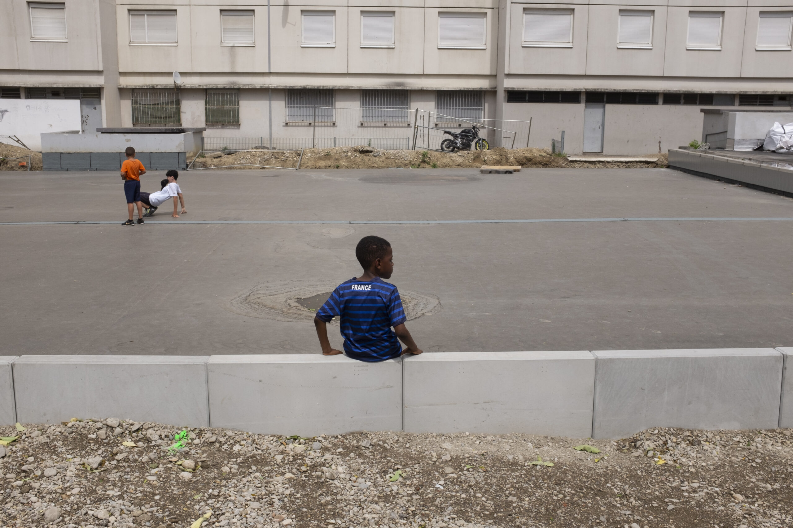
{"label": "long brown dirt and rubble mound in front of the parked motorcycle", "polygon": [[[213,158],[213,156],[218,156]],[[370,146],[337,146],[329,149],[305,149],[301,169],[478,169],[482,165],[520,165],[536,167],[586,167],[586,168],[635,168],[666,167],[666,154],[659,154],[656,162],[637,161],[627,163],[603,161],[569,161],[555,156],[548,149],[507,150],[496,147],[485,151],[461,151],[455,154],[433,150],[377,150]],[[251,169],[252,165],[297,167],[301,157],[299,150],[243,150],[240,152],[208,153],[198,158],[193,168],[228,167]]]}

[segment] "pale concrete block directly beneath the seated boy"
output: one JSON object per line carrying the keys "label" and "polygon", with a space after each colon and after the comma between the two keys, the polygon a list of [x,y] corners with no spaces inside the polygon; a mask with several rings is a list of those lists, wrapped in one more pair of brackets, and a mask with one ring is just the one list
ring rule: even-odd
{"label": "pale concrete block directly beneath the seated boy", "polygon": [[213,355],[212,427],[315,436],[402,428],[402,362],[344,355]]}

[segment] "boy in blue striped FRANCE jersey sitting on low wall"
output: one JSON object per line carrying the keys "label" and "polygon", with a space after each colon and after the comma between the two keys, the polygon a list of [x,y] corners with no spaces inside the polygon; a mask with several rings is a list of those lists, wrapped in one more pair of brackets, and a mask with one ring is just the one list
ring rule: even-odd
{"label": "boy in blue striped FRANCE jersey sitting on low wall", "polygon": [[[384,282],[394,270],[393,250],[385,238],[363,237],[355,248],[363,274],[337,287],[314,317],[323,355],[346,353],[352,359],[377,362],[402,354],[421,354],[410,332],[397,287]],[[341,318],[344,352],[331,348],[327,323]],[[393,326],[393,331],[391,327]],[[404,351],[401,340],[408,348]]]}

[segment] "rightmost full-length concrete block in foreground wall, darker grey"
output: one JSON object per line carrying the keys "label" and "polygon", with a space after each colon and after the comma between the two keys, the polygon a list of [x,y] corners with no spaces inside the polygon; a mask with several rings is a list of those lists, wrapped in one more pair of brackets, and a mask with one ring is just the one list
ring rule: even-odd
{"label": "rightmost full-length concrete block in foreground wall, darker grey", "polygon": [[773,348],[593,351],[595,438],[649,427],[776,427],[783,355]]}

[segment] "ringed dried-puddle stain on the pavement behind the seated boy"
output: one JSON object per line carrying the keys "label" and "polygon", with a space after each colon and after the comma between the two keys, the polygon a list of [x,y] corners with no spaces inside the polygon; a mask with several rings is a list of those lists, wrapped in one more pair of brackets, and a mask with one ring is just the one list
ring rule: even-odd
{"label": "ringed dried-puddle stain on the pavement behind the seated boy", "polygon": [[[276,321],[311,321],[338,284],[285,281],[257,284],[232,298],[224,308],[232,313]],[[442,310],[439,298],[431,294],[400,290],[408,321]],[[338,319],[331,324],[338,324]]]}

